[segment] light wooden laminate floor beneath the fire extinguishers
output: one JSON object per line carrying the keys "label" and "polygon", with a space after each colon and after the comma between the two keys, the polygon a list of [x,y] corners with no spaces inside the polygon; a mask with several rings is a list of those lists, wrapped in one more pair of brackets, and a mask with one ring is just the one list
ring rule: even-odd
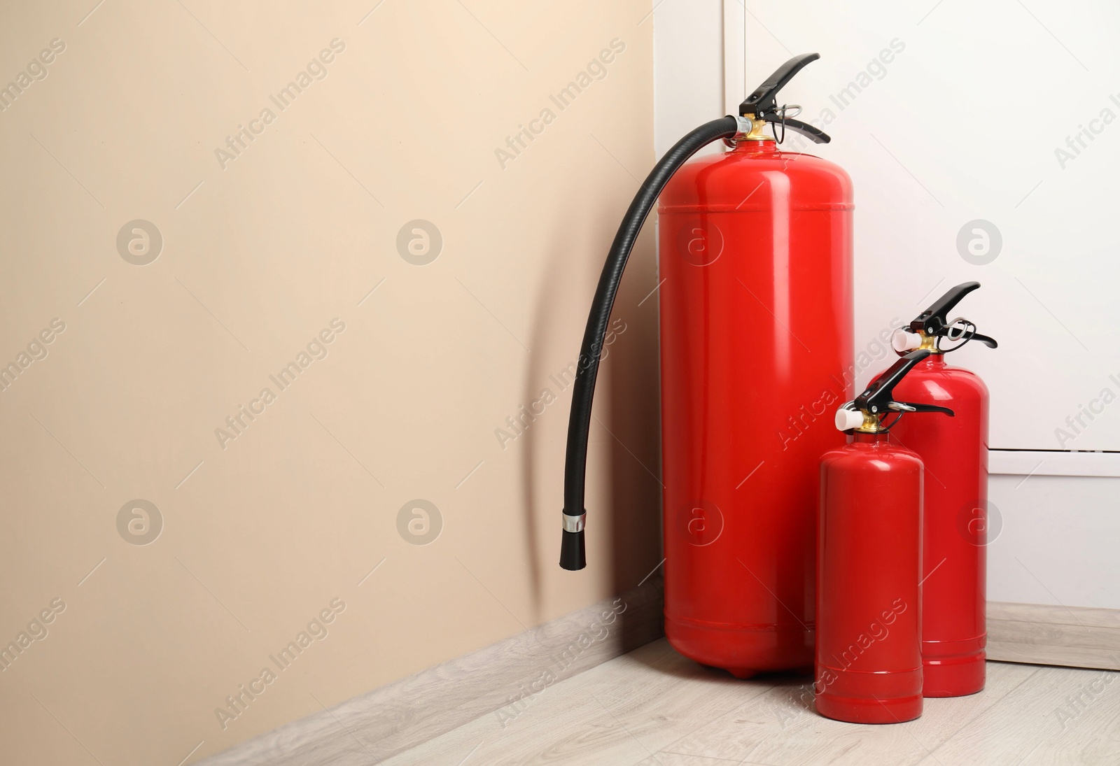
{"label": "light wooden laminate floor beneath the fire extinguishers", "polygon": [[1114,671],[990,662],[979,694],[926,700],[920,719],[892,726],[828,720],[804,693],[808,679],[738,681],[685,660],[664,639],[566,681],[543,681],[536,693],[526,685],[520,706],[381,763],[1120,765]]}

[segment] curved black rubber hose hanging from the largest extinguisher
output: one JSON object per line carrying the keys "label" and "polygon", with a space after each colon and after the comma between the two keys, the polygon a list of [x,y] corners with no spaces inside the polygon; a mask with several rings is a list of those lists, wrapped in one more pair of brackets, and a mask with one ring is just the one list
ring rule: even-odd
{"label": "curved black rubber hose hanging from the largest extinguisher", "polygon": [[[646,216],[653,209],[657,195],[684,162],[700,149],[721,138],[731,138],[738,131],[738,122],[732,116],[720,118],[707,122],[670,149],[661,160],[653,166],[645,181],[634,196],[634,202],[626,209],[623,222],[615,234],[615,241],[607,253],[607,262],[599,275],[599,286],[595,289],[591,301],[591,312],[587,318],[587,329],[584,331],[584,343],[579,351],[579,363],[576,370],[576,385],[572,390],[571,415],[568,420],[568,457],[563,475],[563,513],[564,531],[560,545],[560,566],[563,569],[582,569],[587,566],[584,547],[584,530],[575,520],[586,513],[584,507],[584,483],[587,475],[587,435],[591,427],[591,400],[595,396],[595,379],[599,372],[599,355],[603,353],[603,338],[610,320],[610,309],[615,305],[615,295],[623,278],[623,270],[629,259],[637,234],[645,223]],[[569,519],[570,517],[570,522]],[[579,527],[575,531],[575,527]],[[572,530],[572,531],[569,531]]]}

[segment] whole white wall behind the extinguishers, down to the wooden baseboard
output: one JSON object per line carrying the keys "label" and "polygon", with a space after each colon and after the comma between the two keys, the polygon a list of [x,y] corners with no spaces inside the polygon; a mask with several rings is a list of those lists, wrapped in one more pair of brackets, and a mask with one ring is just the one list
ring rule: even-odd
{"label": "whole white wall behind the extinguishers, down to the wooden baseboard", "polygon": [[[721,66],[725,15],[745,19],[746,46],[745,62],[728,49]],[[1104,2],[1060,12],[1030,2],[666,0],[655,13],[659,152],[726,113],[724,83],[741,67],[753,88],[791,55],[821,54],[783,95],[832,136],[811,151],[855,181],[857,348],[952,284],[982,283],[959,312],[1000,348],[974,344],[953,359],[992,395],[991,501],[1002,522],[992,600],[1120,608],[1120,563],[1109,554],[1120,541],[1120,469],[1068,451],[1120,450],[1120,359],[1107,337],[1120,318],[1110,211],[1120,124],[1102,112],[1120,118],[1110,81],[1120,54],[1107,38],[1118,21]],[[862,86],[844,95],[852,82]],[[1102,114],[1094,140],[1060,159],[1057,149],[1073,153],[1066,137]],[[1002,240],[986,258],[964,250],[987,263],[958,246],[962,228],[967,244],[987,226],[965,226],[974,219]]]}

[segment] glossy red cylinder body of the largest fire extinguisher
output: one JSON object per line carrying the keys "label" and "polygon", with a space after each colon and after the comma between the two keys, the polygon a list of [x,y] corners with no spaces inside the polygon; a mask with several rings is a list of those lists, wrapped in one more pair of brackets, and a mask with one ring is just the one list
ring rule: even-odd
{"label": "glossy red cylinder body of the largest fire extinguisher", "polygon": [[841,168],[774,141],[693,160],[661,195],[665,633],[740,678],[813,663],[818,460],[851,398],[851,211]]}

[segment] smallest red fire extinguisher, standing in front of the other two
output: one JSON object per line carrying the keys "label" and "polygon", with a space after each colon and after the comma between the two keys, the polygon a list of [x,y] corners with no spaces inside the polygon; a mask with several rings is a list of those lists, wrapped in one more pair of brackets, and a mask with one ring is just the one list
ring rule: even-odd
{"label": "smallest red fire extinguisher, standing in front of the other two", "polygon": [[836,426],[852,441],[821,458],[813,692],[816,711],[840,721],[922,714],[923,466],[890,430],[906,412],[953,414],[895,400],[928,355],[907,354],[840,408]]}

